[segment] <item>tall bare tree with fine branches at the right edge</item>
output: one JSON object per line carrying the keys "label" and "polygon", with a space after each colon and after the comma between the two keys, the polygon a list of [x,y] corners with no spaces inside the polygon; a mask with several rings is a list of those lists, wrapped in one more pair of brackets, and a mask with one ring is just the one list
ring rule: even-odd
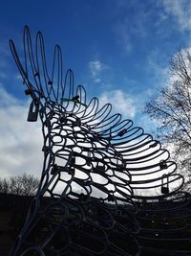
{"label": "tall bare tree with fine branches at the right edge", "polygon": [[159,140],[170,147],[180,170],[190,177],[191,52],[189,49],[180,50],[171,59],[170,71],[170,83],[145,105],[144,112],[158,122]]}

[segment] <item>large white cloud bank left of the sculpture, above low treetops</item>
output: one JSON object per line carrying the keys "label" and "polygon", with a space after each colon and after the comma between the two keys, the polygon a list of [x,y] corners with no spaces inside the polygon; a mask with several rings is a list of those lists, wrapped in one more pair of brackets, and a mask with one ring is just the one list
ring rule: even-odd
{"label": "large white cloud bank left of the sculpture, above low treetops", "polygon": [[27,123],[29,103],[21,102],[0,86],[0,177],[41,175],[40,123]]}

